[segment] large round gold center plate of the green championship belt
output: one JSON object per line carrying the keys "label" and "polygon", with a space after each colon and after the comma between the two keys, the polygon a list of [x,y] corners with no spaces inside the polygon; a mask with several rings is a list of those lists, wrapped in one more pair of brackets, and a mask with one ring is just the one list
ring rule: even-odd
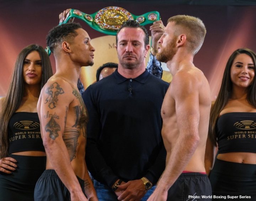
{"label": "large round gold center plate of the green championship belt", "polygon": [[95,16],[95,22],[101,28],[108,30],[118,30],[128,19],[133,19],[131,13],[117,6],[102,8]]}

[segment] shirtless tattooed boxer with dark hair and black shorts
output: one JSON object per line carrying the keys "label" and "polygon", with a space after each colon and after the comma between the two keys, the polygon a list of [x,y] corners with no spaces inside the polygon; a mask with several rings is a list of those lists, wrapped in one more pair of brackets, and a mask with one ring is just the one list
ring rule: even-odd
{"label": "shirtless tattooed boxer with dark hair and black shorts", "polygon": [[47,45],[55,57],[56,73],[42,88],[37,105],[47,163],[34,199],[95,201],[85,163],[88,114],[77,88],[80,69],[94,63],[95,49],[77,23],[54,27]]}

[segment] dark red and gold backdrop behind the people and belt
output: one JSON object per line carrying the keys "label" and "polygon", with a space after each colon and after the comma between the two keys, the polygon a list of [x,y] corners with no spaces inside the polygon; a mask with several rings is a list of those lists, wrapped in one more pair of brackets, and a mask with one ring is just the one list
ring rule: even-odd
{"label": "dark red and gold backdrop behind the people and belt", "polygon": [[[18,53],[23,47],[37,43],[46,47],[48,31],[59,24],[59,14],[67,8],[92,14],[108,6],[119,6],[134,15],[158,11],[166,25],[174,15],[192,15],[202,19],[207,34],[194,64],[206,75],[212,100],[218,94],[226,61],[230,54],[247,47],[256,51],[256,2],[249,0],[0,0],[0,97],[5,96]],[[95,64],[82,67],[85,88],[95,82],[97,68],[106,62],[118,62],[115,36],[92,29],[75,19],[87,31],[95,47]],[[149,25],[146,28],[149,31]],[[150,31],[149,31],[150,33]],[[55,72],[54,56],[50,56]],[[170,79],[164,67],[163,79]]]}

